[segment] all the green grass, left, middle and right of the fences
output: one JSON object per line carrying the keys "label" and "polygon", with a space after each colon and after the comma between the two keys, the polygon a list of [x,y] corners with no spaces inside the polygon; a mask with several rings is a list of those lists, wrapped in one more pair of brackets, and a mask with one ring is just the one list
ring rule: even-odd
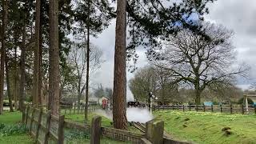
{"label": "all the green grass, left, middle and right of the fences", "polygon": [[[96,114],[89,114],[89,122]],[[182,112],[182,111],[157,111],[155,118],[165,122],[165,130],[173,138],[194,143],[256,143],[256,115],[242,114],[220,114],[203,112]],[[84,122],[83,114],[66,114],[66,119],[73,122]],[[22,119],[19,112],[5,112],[0,115],[0,123],[8,126],[18,124]],[[102,126],[111,127],[111,120],[102,117]],[[231,130],[222,131],[229,127]],[[132,131],[134,128],[130,127]],[[90,140],[87,140],[89,143]],[[13,134],[3,136],[0,132],[0,144],[25,144],[33,143],[29,134]],[[124,143],[116,142],[108,138],[103,138],[102,143]]]}

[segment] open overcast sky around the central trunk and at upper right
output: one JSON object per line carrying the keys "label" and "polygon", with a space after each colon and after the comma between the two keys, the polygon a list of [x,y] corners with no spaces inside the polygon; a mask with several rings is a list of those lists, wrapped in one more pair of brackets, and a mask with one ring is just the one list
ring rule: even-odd
{"label": "open overcast sky around the central trunk and at upper right", "polygon": [[[209,5],[210,14],[206,21],[216,22],[234,30],[233,44],[238,52],[238,63],[246,62],[251,67],[249,78],[238,78],[237,85],[243,89],[256,82],[256,1],[255,0],[218,0]],[[114,33],[115,22],[104,30],[98,38],[92,38],[94,45],[103,51],[102,68],[90,78],[92,86],[102,84],[113,87],[114,79]],[[144,50],[137,51],[138,67],[146,66]],[[127,72],[127,82],[134,74]],[[133,98],[127,86],[127,98]]]}

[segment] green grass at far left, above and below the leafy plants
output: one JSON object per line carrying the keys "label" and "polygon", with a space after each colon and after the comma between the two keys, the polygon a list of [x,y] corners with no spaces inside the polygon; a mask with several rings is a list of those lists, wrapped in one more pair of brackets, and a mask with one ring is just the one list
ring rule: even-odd
{"label": "green grass at far left, above and below the leafy plants", "polygon": [[[0,115],[0,123],[4,123],[6,125],[15,125],[21,122],[22,113],[20,112],[7,112]],[[0,144],[26,144],[26,143],[34,143],[29,134],[13,134],[11,136],[3,136],[0,133]]]}

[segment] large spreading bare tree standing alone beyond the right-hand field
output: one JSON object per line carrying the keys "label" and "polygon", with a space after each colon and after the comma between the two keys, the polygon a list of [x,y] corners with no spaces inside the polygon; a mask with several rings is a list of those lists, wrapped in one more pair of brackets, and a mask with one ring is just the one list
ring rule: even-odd
{"label": "large spreading bare tree standing alone beyond the right-hand field", "polygon": [[232,69],[235,62],[232,31],[223,26],[204,23],[206,35],[182,30],[170,35],[166,47],[159,50],[153,63],[174,82],[187,82],[194,86],[194,101],[201,102],[202,91],[214,82],[230,82],[236,74],[244,74],[246,68]]}

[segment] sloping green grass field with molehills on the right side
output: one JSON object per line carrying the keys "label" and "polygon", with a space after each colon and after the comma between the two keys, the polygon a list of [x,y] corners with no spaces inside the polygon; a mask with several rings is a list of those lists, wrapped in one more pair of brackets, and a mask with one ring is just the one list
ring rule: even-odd
{"label": "sloping green grass field with molehills on the right side", "polygon": [[[157,111],[165,130],[178,140],[195,143],[256,143],[256,115]],[[222,128],[230,127],[232,134]]]}

